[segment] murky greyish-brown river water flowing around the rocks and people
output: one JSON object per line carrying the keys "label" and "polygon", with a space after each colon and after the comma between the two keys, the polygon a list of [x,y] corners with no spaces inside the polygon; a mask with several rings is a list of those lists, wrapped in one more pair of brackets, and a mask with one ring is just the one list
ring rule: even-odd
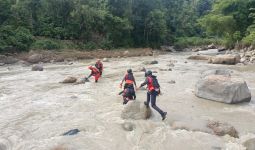
{"label": "murky greyish-brown river water flowing around the rocks and people", "polygon": [[[0,150],[242,150],[242,143],[255,137],[255,66],[212,65],[186,60],[191,53],[172,53],[154,57],[110,59],[105,62],[98,83],[60,84],[67,76],[89,74],[92,60],[68,64],[45,64],[44,71],[33,72],[21,65],[0,67]],[[134,71],[142,62],[155,59],[159,64],[146,68],[158,73],[163,95],[157,104],[168,112],[167,119],[154,111],[149,120],[133,120],[135,129],[125,131],[120,117],[123,110],[118,88],[126,69]],[[172,71],[169,61],[176,60]],[[185,62],[187,61],[187,62]],[[197,98],[193,91],[201,72],[232,69],[242,76],[252,101],[228,105]],[[134,72],[137,82],[143,72]],[[168,82],[175,80],[175,84]],[[92,80],[91,80],[92,81]],[[146,92],[137,91],[144,101]],[[176,130],[175,121],[199,126],[201,121],[218,120],[233,125],[240,138],[219,137],[200,131]],[[70,129],[77,135],[62,136]],[[202,127],[201,127],[202,128]]]}

